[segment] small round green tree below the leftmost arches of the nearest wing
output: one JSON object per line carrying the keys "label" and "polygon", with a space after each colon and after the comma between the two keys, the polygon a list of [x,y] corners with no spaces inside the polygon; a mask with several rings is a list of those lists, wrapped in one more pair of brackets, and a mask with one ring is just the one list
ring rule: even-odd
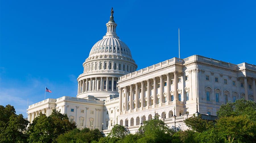
{"label": "small round green tree below the leftmost arches of the nearest wing", "polygon": [[122,126],[115,124],[110,133],[108,134],[109,137],[116,137],[116,138],[124,138],[126,135],[128,135],[128,130]]}

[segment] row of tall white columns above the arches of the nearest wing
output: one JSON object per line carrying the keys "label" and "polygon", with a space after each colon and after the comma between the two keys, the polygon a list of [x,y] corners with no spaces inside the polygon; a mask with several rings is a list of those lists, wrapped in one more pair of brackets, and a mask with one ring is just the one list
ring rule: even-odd
{"label": "row of tall white columns above the arches of the nearest wing", "polygon": [[[178,72],[177,71],[174,71],[173,72],[174,74],[174,99],[177,100],[178,97],[177,97],[177,85],[178,85],[178,79],[177,79],[177,74]],[[167,102],[171,101],[170,99],[170,73],[166,73],[165,74],[166,77],[167,77],[167,82],[166,82],[166,86],[167,86]],[[163,89],[164,89],[164,83],[163,83],[163,75],[160,75],[158,76],[160,78],[160,102],[159,104],[163,103]],[[152,79],[154,80],[154,91],[153,91],[153,105],[156,105],[156,101],[157,101],[157,83],[156,83],[156,78],[157,77],[153,77]],[[151,98],[150,98],[150,79],[147,79],[147,105],[146,106],[150,106],[150,101],[151,101]],[[135,83],[135,109],[137,108],[140,108],[139,107],[139,90],[138,90],[138,86],[139,84],[141,84],[141,107],[144,107],[144,81],[141,81],[140,83]],[[130,110],[133,109],[133,84],[131,84],[129,87],[128,86],[125,86],[125,87],[119,87],[119,109],[120,111],[127,111],[129,109],[127,109],[128,107],[128,104],[127,104],[127,92],[128,92],[128,88],[130,88]],[[123,90],[124,89],[124,90]],[[123,98],[123,92],[124,92],[124,99]],[[124,100],[124,101],[123,101]],[[124,106],[124,109],[122,109],[122,104],[125,104]]]}

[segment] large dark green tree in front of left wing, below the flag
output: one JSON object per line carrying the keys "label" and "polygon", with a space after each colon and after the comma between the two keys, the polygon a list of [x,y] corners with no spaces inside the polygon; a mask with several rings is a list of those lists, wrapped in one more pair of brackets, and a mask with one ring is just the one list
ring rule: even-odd
{"label": "large dark green tree in front of left wing, below the flag", "polygon": [[53,110],[50,116],[40,114],[28,127],[28,142],[56,142],[59,135],[75,129],[75,123],[70,123],[67,114]]}

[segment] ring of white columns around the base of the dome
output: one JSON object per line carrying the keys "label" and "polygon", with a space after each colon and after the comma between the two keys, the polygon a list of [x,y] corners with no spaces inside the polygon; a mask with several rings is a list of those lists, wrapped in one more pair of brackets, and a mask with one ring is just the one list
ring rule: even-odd
{"label": "ring of white columns around the base of the dome", "polygon": [[[103,88],[103,78],[106,78],[106,89]],[[109,80],[112,78],[111,90],[109,90]],[[91,77],[87,79],[82,79],[78,82],[77,94],[91,91],[114,91],[114,81],[116,77]],[[90,81],[90,82],[89,82]],[[116,79],[117,81],[117,79]],[[88,86],[89,83],[89,86]]]}

